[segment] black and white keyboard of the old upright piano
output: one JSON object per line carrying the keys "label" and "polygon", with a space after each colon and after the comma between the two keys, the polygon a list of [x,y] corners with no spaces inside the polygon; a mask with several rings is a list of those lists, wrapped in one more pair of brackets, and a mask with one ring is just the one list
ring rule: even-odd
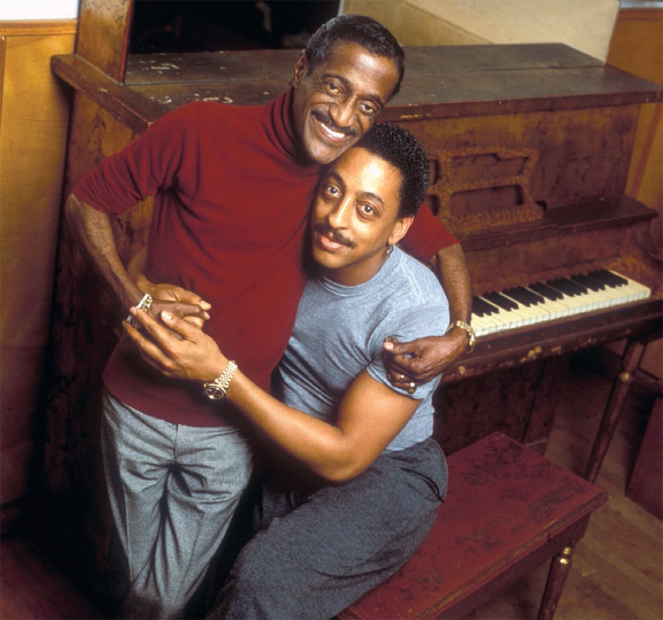
{"label": "black and white keyboard of the old upright piano", "polygon": [[472,297],[477,337],[592,312],[649,297],[646,286],[599,270]]}

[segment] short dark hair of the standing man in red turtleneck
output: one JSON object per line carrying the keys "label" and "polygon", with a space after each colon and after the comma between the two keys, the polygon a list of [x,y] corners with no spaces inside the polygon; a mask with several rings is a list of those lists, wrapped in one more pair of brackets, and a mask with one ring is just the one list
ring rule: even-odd
{"label": "short dark hair of the standing man in red turtleneck", "polygon": [[400,90],[405,73],[405,52],[389,30],[366,15],[339,15],[320,26],[304,50],[308,70],[325,61],[341,41],[358,43],[375,56],[393,60],[398,67],[398,82],[391,97]]}

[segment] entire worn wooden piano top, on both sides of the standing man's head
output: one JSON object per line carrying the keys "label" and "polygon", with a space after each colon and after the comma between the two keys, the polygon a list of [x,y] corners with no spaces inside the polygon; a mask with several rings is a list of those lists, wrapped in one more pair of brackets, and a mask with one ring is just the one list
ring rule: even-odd
{"label": "entire worn wooden piano top, on both sides of the standing man's head", "polygon": [[[125,83],[76,55],[54,71],[101,105],[149,124],[201,99],[262,105],[288,87],[297,50],[130,55]],[[661,100],[661,87],[559,43],[407,47],[382,120],[433,119]],[[138,127],[136,127],[138,129]]]}

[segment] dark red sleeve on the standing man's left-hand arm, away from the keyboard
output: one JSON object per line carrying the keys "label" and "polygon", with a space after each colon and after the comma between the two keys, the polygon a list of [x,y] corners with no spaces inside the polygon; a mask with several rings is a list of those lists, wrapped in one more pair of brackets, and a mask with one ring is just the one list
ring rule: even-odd
{"label": "dark red sleeve on the standing man's left-hand arm, away from the keyboard", "polygon": [[91,207],[116,216],[172,187],[185,151],[196,148],[195,105],[162,116],[85,175],[73,193]]}

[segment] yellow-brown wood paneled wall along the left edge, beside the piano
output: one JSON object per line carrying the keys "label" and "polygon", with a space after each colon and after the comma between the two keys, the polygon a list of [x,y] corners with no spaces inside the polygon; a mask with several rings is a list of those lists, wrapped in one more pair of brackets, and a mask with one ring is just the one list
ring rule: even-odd
{"label": "yellow-brown wood paneled wall along the left edge, beside the piano", "polygon": [[[0,529],[29,491],[44,385],[76,20],[0,22]],[[39,451],[40,452],[40,451]]]}

